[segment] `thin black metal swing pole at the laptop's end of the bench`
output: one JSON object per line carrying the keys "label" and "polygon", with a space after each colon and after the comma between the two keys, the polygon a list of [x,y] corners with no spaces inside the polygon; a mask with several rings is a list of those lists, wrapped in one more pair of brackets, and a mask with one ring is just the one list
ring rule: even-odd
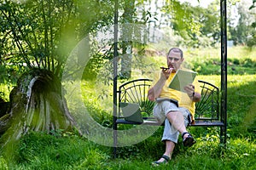
{"label": "thin black metal swing pole at the laptop's end of the bench", "polygon": [[118,78],[118,17],[119,1],[114,1],[114,36],[113,36],[113,156],[117,151],[117,78]]}

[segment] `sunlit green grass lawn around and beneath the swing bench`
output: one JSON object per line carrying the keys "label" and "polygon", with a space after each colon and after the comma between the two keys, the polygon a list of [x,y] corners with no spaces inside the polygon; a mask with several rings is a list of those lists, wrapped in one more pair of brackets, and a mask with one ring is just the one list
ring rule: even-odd
{"label": "sunlit green grass lawn around and beneath the swing bench", "polygon": [[[189,53],[207,56],[211,60],[216,59],[218,50],[186,51],[187,55]],[[250,52],[247,48],[231,48],[229,54],[233,56],[230,57],[233,63],[240,64],[247,58],[255,61],[253,56],[256,56],[255,50]],[[240,58],[241,55],[243,56]],[[196,64],[196,58],[191,60],[191,65]],[[150,61],[157,62],[159,58],[152,57],[148,63]],[[162,60],[159,61],[160,65],[163,64],[161,62]],[[208,68],[207,65],[204,66],[204,69]],[[219,69],[219,65],[213,67],[215,70]],[[252,65],[241,67],[254,71]],[[212,68],[209,67],[207,74],[201,74],[199,79],[220,88],[219,74],[209,74]],[[142,76],[134,75],[135,78]],[[151,162],[156,161],[165,150],[165,145],[160,142],[162,127],[138,144],[119,148],[117,159],[113,159],[113,148],[96,144],[78,133],[32,132],[15,144],[15,152],[1,150],[0,169],[256,169],[255,80],[255,71],[254,74],[249,71],[247,74],[230,72],[228,75],[228,140],[225,150],[219,145],[217,127],[189,127],[189,132],[193,133],[197,143],[188,149],[183,147],[179,139],[172,161],[166,166],[152,167]],[[102,92],[100,88],[96,88],[96,82],[85,80],[81,87],[84,104],[90,115],[102,126],[111,127],[112,89]],[[102,89],[105,88],[102,86]],[[8,90],[4,85],[2,89]],[[8,92],[5,91],[4,94]],[[9,161],[9,157],[14,159]]]}

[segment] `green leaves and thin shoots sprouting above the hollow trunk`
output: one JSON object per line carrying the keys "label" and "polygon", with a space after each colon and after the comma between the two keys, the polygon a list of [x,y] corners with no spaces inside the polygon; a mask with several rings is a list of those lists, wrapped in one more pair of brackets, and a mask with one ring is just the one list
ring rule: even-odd
{"label": "green leaves and thin shoots sprouting above the hollow trunk", "polygon": [[111,0],[1,0],[0,59],[61,76],[62,65],[75,45],[90,32],[112,23],[112,5]]}

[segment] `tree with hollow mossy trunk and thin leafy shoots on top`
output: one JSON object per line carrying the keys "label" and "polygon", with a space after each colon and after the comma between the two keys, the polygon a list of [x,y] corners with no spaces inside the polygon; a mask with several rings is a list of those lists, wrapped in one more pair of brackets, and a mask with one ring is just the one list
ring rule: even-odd
{"label": "tree with hollow mossy trunk and thin leafy shoots on top", "polygon": [[76,127],[61,93],[63,65],[79,40],[112,22],[111,4],[1,0],[2,64],[8,62],[26,70],[10,94],[9,111],[0,118],[3,145],[29,130],[50,132]]}

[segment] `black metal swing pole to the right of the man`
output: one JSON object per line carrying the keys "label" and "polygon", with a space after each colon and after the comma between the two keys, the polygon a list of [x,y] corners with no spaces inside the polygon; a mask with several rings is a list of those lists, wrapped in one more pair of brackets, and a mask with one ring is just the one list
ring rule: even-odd
{"label": "black metal swing pole to the right of the man", "polygon": [[221,11],[221,143],[227,142],[227,5],[226,0],[220,2]]}

